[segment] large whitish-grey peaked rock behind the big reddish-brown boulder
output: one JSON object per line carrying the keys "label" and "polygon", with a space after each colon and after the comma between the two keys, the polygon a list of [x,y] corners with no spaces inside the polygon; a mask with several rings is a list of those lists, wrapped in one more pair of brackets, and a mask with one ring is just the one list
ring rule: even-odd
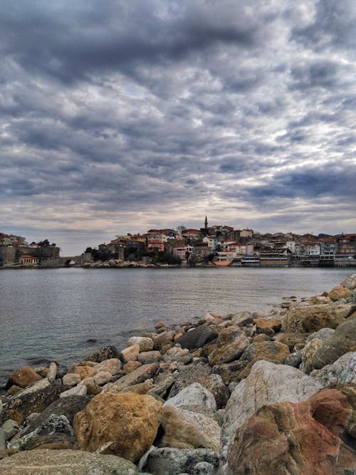
{"label": "large whitish-grey peaked rock behind the big reddish-brown boulder", "polygon": [[256,362],[248,377],[236,386],[226,404],[221,434],[222,456],[228,456],[236,430],[257,409],[275,402],[307,400],[322,387],[320,382],[295,367],[275,365],[263,360]]}

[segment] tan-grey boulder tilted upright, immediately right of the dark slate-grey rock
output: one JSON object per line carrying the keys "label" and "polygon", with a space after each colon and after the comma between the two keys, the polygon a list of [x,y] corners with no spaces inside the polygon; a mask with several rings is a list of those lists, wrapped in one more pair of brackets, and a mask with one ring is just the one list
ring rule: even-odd
{"label": "tan-grey boulder tilted upright, immediately right of the dark slate-grey rock", "polygon": [[249,343],[245,333],[238,326],[224,328],[216,340],[214,350],[208,356],[209,363],[217,365],[238,360]]}

